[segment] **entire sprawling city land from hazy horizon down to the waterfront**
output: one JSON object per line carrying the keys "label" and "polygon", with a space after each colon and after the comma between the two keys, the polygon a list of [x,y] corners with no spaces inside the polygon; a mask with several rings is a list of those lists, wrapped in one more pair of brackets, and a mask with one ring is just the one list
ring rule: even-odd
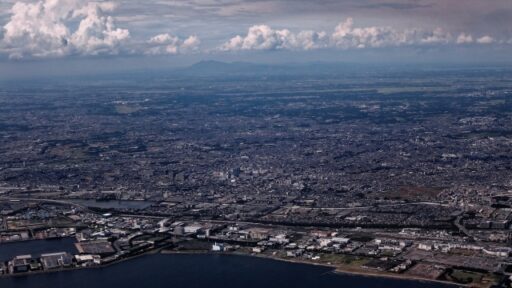
{"label": "entire sprawling city land from hazy horizon down to the waterfront", "polygon": [[508,275],[512,87],[480,72],[2,91],[0,245],[77,253],[0,271],[169,248]]}

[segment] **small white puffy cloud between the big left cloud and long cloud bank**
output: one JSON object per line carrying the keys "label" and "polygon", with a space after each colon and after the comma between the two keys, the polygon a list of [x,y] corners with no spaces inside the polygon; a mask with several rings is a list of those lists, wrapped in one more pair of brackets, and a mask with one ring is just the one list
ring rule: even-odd
{"label": "small white puffy cloud between the big left cloud and long cloud bank", "polygon": [[165,33],[152,37],[147,44],[148,47],[144,52],[145,54],[164,55],[198,51],[201,41],[195,35],[183,40],[177,36]]}

